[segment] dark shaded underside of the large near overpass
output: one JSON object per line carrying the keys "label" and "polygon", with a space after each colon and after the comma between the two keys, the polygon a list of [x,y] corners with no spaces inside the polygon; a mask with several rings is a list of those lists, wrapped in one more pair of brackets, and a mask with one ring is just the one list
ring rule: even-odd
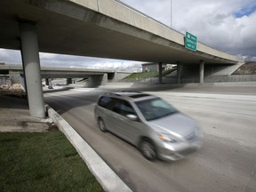
{"label": "dark shaded underside of the large near overpass", "polygon": [[20,20],[36,22],[40,52],[166,63],[228,62],[203,52],[195,54],[163,37],[64,1],[36,6],[24,1],[1,1],[2,48],[20,49]]}

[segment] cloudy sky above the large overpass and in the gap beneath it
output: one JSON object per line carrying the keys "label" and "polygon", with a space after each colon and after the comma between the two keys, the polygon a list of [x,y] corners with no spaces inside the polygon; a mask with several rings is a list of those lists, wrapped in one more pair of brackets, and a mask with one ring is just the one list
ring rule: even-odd
{"label": "cloudy sky above the large overpass and in the gap beneath it", "polygon": [[[223,52],[256,60],[256,0],[122,0],[140,12]],[[172,6],[171,6],[172,4]],[[172,12],[171,12],[172,11]],[[40,53],[41,65],[133,70],[140,62]],[[21,63],[20,52],[0,49],[0,62]]]}

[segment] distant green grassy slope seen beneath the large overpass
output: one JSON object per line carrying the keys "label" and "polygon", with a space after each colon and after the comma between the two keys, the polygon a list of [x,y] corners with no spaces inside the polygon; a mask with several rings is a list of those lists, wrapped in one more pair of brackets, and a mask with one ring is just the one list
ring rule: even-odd
{"label": "distant green grassy slope seen beneath the large overpass", "polygon": [[[172,71],[176,70],[176,68],[172,68],[169,70],[164,70],[163,71],[163,76],[166,76]],[[151,78],[151,77],[157,77],[159,76],[159,72],[140,72],[140,73],[132,73],[130,76],[126,76],[124,80],[132,80],[132,79],[144,79],[144,78]]]}

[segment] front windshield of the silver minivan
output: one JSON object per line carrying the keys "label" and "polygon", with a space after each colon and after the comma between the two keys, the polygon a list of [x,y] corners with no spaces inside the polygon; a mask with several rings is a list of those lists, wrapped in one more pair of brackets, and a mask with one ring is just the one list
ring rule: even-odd
{"label": "front windshield of the silver minivan", "polygon": [[140,100],[136,101],[135,104],[147,121],[169,116],[177,112],[169,103],[160,98]]}

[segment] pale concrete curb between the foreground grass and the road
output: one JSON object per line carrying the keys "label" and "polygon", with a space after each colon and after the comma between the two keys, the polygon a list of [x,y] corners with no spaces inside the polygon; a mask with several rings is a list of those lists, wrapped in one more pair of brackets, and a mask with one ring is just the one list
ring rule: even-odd
{"label": "pale concrete curb between the foreground grass and the road", "polygon": [[109,192],[132,192],[123,180],[121,180],[113,170],[111,170],[97,153],[88,145],[88,143],[50,106],[45,106],[48,116],[63,132],[72,143],[78,154],[84,160],[89,170],[99,181],[105,191]]}

